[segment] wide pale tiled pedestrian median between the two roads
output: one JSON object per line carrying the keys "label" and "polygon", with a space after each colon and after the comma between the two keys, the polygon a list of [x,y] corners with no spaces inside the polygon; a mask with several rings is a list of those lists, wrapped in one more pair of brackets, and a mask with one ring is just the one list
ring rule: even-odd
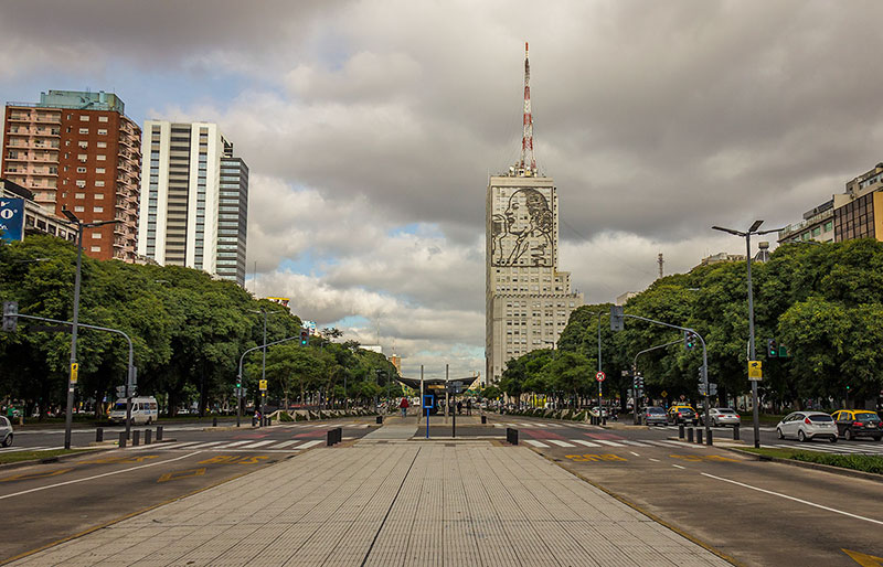
{"label": "wide pale tiled pedestrian median between the two roads", "polygon": [[12,565],[681,565],[723,559],[525,448],[311,450]]}

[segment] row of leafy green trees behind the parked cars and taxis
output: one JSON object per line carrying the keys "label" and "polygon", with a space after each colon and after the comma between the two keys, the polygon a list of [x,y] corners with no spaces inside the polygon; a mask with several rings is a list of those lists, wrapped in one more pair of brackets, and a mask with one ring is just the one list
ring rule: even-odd
{"label": "row of leafy green trees behind the parked cars and taxis", "polygon": [[[807,399],[827,405],[863,405],[883,389],[883,243],[779,246],[765,264],[753,264],[756,359],[763,362],[763,402],[775,409],[802,408]],[[500,387],[510,396],[544,394],[575,405],[597,396],[597,317],[605,397],[628,397],[635,355],[651,398],[699,400],[702,349],[688,351],[674,330],[626,319],[614,333],[609,303],[571,314],[556,351],[533,351],[510,361]],[[626,313],[695,329],[708,343],[709,379],[724,404],[751,391],[747,381],[748,312],[745,263],[696,267],[660,278],[631,298]],[[767,339],[787,345],[788,357],[768,357]],[[666,394],[663,396],[662,394]]]}

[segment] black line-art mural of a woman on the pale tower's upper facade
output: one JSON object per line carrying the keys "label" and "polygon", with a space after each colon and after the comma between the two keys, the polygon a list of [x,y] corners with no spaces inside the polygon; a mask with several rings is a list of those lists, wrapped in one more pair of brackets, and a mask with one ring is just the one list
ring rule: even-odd
{"label": "black line-art mural of a woman on the pale tower's upper facade", "polygon": [[552,188],[493,188],[491,265],[553,267]]}

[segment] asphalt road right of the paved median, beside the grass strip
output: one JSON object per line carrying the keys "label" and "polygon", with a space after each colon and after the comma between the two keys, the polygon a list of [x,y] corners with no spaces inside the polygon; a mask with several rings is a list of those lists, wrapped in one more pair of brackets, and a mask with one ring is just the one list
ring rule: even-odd
{"label": "asphalt road right of the paved median, beside the grass strip", "polygon": [[[883,483],[680,442],[669,439],[677,438],[673,428],[611,430],[514,416],[491,421],[518,427],[520,443],[742,564],[880,565],[859,563],[847,550],[883,556]],[[869,443],[879,445],[857,445]]]}

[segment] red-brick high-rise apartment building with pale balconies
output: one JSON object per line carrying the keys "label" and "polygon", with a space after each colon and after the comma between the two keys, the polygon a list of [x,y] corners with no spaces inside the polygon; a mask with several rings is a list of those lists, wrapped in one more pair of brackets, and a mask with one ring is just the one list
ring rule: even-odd
{"label": "red-brick high-rise apartment building with pale balconies", "polygon": [[2,176],[41,206],[84,222],[83,249],[98,259],[136,259],[141,130],[113,93],[50,90],[40,103],[7,103]]}

